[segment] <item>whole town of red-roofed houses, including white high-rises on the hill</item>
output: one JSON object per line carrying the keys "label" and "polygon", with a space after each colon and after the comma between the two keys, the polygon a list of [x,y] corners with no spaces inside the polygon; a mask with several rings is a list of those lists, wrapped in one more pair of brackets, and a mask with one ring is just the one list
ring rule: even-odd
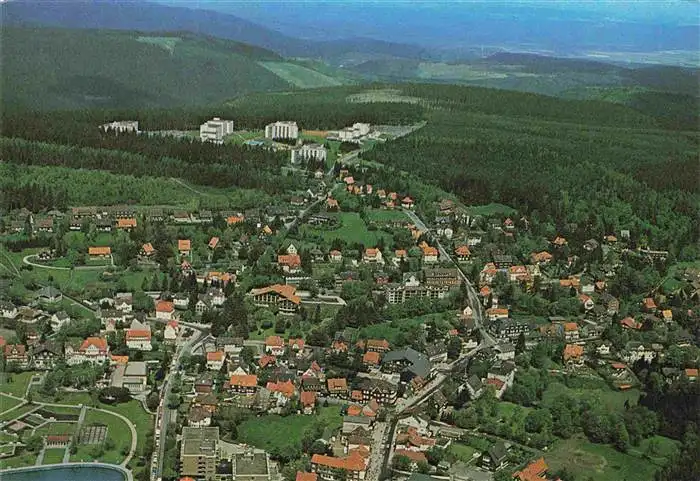
{"label": "whole town of red-roofed houses, including white high-rises on the hill", "polygon": [[397,132],[267,125],[246,144],[306,172],[269,205],[3,213],[4,466],[544,481],[577,443],[675,449],[638,400],[698,381],[697,263],[633,294],[667,251],[397,183],[361,158]]}

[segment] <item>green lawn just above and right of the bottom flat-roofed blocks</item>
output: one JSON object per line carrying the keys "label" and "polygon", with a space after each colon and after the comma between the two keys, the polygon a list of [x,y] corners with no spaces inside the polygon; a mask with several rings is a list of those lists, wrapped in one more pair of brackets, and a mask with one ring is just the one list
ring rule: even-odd
{"label": "green lawn just above and right of the bottom flat-roofed blocks", "polygon": [[[340,406],[320,408],[316,416],[269,414],[246,420],[238,427],[238,441],[270,451],[272,449],[301,449],[304,432],[315,422],[320,421],[330,427],[340,427],[343,419]],[[270,433],[279,433],[271,436]]]}

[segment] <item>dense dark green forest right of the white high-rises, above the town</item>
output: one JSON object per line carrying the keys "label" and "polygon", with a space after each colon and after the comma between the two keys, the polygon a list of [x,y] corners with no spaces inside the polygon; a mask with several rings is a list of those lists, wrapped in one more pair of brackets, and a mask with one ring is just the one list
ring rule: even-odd
{"label": "dense dark green forest right of the white high-rises, above the town", "polygon": [[631,229],[641,244],[676,254],[697,241],[696,134],[654,129],[654,118],[623,106],[518,93],[487,104],[475,90],[406,87],[432,99],[428,126],[365,158],[558,229],[583,226],[591,237]]}

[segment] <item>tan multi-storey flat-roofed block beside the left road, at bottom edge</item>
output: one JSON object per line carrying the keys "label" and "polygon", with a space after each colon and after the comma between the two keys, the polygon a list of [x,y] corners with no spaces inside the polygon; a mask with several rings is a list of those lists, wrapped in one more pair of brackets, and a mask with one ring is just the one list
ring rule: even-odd
{"label": "tan multi-storey flat-roofed block beside the left road, at bottom edge", "polygon": [[218,451],[218,427],[182,428],[180,474],[197,479],[216,479]]}

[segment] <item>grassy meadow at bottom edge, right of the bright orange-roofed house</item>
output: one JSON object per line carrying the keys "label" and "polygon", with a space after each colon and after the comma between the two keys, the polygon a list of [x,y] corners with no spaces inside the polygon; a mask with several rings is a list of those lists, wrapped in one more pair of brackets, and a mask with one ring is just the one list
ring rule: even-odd
{"label": "grassy meadow at bottom edge, right of the bright orange-roofed house", "polygon": [[576,479],[593,481],[651,481],[657,469],[646,459],[585,438],[557,441],[545,460],[552,471],[566,468]]}

